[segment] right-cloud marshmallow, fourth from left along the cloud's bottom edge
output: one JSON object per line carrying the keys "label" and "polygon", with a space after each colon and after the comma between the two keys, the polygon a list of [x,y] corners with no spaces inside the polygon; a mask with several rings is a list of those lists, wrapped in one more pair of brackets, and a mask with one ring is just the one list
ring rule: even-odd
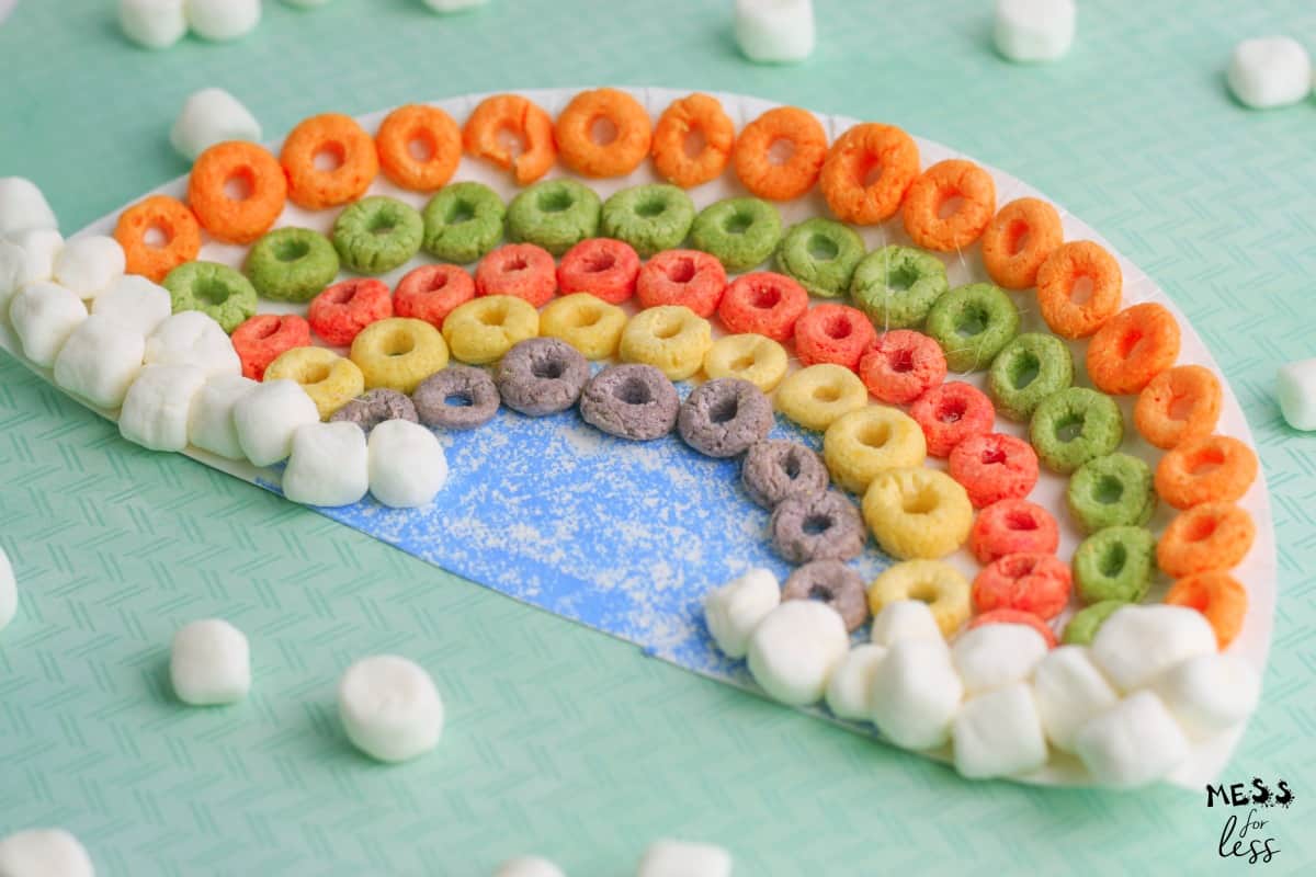
{"label": "right-cloud marshmallow, fourth from left along the cloud's bottom edge", "polygon": [[941,639],[900,639],[873,675],[873,722],[896,746],[932,749],[950,736],[965,685]]}

